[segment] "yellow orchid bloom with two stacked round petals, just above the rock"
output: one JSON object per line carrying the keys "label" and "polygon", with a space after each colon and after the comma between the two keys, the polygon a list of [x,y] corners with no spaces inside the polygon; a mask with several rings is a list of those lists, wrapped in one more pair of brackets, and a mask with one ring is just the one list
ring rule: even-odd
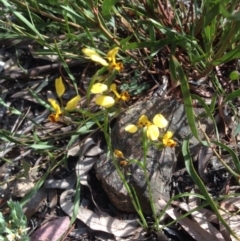
{"label": "yellow orchid bloom with two stacked round petals, just above the rock", "polygon": [[[107,91],[113,92],[115,95],[115,98],[113,98],[111,95],[104,94]],[[111,84],[110,88],[108,89],[108,86],[106,84],[96,83],[92,86],[91,93],[98,94],[95,99],[95,103],[104,108],[110,108],[120,100],[129,101],[130,99],[130,95],[127,91],[118,93],[116,84]]]}

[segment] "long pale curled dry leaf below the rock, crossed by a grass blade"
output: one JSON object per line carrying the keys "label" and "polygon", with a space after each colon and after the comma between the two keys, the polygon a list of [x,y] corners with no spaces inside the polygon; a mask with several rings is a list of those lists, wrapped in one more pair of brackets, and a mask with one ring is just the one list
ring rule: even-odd
{"label": "long pale curled dry leaf below the rock, crossed by a grass blade", "polygon": [[[73,190],[66,190],[60,198],[60,206],[69,216],[73,214],[74,203],[69,198],[69,195],[74,195]],[[99,230],[111,233],[116,237],[126,237],[140,233],[142,228],[139,227],[137,221],[131,223],[119,220],[113,217],[99,216],[91,210],[79,208],[77,218],[84,222],[92,230]]]}

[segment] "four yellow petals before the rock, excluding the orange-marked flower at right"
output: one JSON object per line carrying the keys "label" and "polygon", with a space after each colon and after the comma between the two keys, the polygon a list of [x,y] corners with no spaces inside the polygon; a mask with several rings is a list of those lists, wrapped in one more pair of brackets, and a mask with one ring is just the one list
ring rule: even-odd
{"label": "four yellow petals before the rock, excluding the orange-marked flower at right", "polygon": [[[137,125],[130,124],[125,127],[125,131],[130,133],[135,133],[138,131],[139,128],[146,129],[147,138],[151,141],[156,141],[159,138],[160,132],[159,128],[165,128],[167,120],[161,115],[157,114],[153,118],[153,122],[149,121],[146,115],[141,115],[138,119]],[[168,122],[167,122],[168,124]]]}

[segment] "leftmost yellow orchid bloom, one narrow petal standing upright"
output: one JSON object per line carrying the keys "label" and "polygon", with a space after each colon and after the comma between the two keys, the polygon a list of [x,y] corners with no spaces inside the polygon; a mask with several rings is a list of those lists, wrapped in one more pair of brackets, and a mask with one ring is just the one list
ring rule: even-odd
{"label": "leftmost yellow orchid bloom, one narrow petal standing upright", "polygon": [[[61,97],[62,95],[65,93],[65,86],[63,84],[63,81],[62,81],[62,77],[60,76],[59,78],[57,78],[55,80],[55,89],[56,89],[56,93],[57,93],[57,96],[60,98],[61,100]],[[64,108],[65,111],[72,111],[76,108],[78,102],[80,101],[80,96],[79,95],[76,95],[75,97],[73,97],[71,100],[69,100],[67,102],[67,105],[66,107]],[[53,107],[54,109],[54,113],[50,114],[48,116],[48,119],[51,121],[51,122],[57,122],[59,121],[61,115],[63,114],[63,110],[61,109],[60,105],[58,104],[57,100],[56,99],[53,99],[53,98],[49,98],[48,99],[48,102],[51,104],[51,106]],[[62,100],[61,100],[62,102]]]}

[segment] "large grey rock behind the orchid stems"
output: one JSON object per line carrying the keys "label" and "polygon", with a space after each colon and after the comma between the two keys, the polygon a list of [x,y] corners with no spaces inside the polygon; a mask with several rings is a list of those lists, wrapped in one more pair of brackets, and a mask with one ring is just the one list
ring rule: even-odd
{"label": "large grey rock behind the orchid stems", "polygon": [[[142,132],[138,131],[135,134],[131,134],[126,132],[124,128],[130,123],[136,124],[139,117],[143,114],[147,115],[149,120],[152,121],[153,117],[158,113],[163,114],[170,122],[168,129],[174,132],[174,139],[177,140],[178,143],[191,133],[187,124],[184,106],[181,103],[176,100],[153,98],[152,100],[144,101],[130,107],[117,118],[111,134],[113,150],[119,149],[123,152],[125,158],[137,159],[143,164]],[[191,138],[190,147],[196,147],[197,145],[198,140]],[[175,148],[165,148],[164,150],[159,150],[151,145],[148,149],[146,168],[153,203],[156,203],[159,198],[163,198],[165,201],[168,201],[170,198],[169,182],[175,170],[180,148],[181,144]],[[143,169],[135,163],[120,168],[129,186],[135,190],[143,212],[145,214],[151,214],[149,191]],[[130,196],[120,180],[113,160],[107,157],[106,154],[102,155],[95,164],[95,170],[96,176],[101,182],[110,201],[121,211],[134,212],[135,210],[131,203]],[[159,213],[158,205],[154,206],[156,212]]]}

